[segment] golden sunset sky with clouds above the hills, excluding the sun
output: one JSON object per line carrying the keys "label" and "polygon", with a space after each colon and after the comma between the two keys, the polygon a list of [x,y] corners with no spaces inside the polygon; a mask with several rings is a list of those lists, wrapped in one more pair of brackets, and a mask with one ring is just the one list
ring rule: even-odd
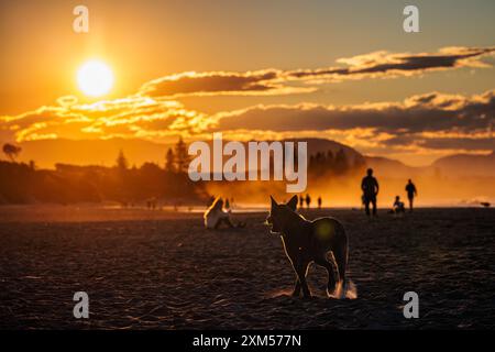
{"label": "golden sunset sky with clouds above the hills, excluding the sun", "polygon": [[[74,7],[89,33],[73,31]],[[420,33],[403,9],[419,8]],[[495,2],[0,2],[0,142],[327,138],[427,165],[495,150]],[[78,70],[112,70],[89,97]],[[74,161],[79,162],[79,161]]]}

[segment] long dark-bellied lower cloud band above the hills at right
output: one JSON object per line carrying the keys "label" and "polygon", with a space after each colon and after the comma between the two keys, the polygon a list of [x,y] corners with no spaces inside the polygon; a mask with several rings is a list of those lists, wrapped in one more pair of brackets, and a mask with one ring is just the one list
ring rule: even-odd
{"label": "long dark-bellied lower cloud band above the hills at right", "polygon": [[373,128],[394,133],[486,129],[495,111],[495,90],[463,97],[432,92],[403,102],[355,106],[255,106],[216,116],[218,130],[299,131]]}

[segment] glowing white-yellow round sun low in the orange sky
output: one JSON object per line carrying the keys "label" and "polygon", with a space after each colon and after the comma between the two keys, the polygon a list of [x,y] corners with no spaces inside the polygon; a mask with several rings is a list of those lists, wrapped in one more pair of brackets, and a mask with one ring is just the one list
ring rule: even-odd
{"label": "glowing white-yellow round sun low in the orange sky", "polygon": [[89,97],[101,97],[113,86],[113,73],[103,62],[91,59],[77,72],[77,85]]}

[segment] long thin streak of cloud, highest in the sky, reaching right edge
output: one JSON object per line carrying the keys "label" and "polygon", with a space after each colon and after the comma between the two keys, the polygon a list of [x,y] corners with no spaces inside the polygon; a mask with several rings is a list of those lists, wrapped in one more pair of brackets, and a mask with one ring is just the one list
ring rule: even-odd
{"label": "long thin streak of cloud, highest in the sky, reaching right edge", "polygon": [[[144,84],[141,96],[266,96],[311,92],[322,84],[366,78],[396,78],[460,67],[490,67],[481,59],[495,47],[443,47],[438,53],[388,53],[385,51],[339,58],[343,67],[317,69],[264,69],[256,72],[182,73]],[[299,84],[299,86],[295,86]],[[306,86],[301,87],[300,84]]]}

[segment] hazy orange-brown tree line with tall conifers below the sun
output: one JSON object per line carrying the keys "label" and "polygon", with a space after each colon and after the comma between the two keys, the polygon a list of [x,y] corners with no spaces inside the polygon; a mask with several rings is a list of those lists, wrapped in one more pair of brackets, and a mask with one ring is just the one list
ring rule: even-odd
{"label": "hazy orange-brown tree line with tall conifers below the sun", "polygon": [[38,169],[34,162],[15,162],[20,147],[7,152],[3,147],[3,152],[10,162],[0,162],[0,204],[117,201],[133,206],[153,198],[162,204],[202,205],[209,199],[205,185],[187,175],[189,155],[182,139],[165,153],[163,167],[155,163],[130,167],[121,150],[110,167],[56,164],[55,169]]}

